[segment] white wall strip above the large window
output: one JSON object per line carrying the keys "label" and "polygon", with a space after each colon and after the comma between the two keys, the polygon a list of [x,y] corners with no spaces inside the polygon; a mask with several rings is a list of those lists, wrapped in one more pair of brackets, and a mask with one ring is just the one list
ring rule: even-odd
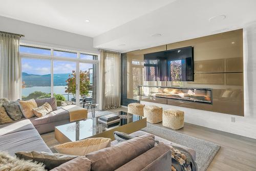
{"label": "white wall strip above the large window", "polygon": [[[72,24],[72,23],[70,23]],[[0,31],[24,34],[20,42],[61,49],[99,53],[93,38],[0,16]]]}

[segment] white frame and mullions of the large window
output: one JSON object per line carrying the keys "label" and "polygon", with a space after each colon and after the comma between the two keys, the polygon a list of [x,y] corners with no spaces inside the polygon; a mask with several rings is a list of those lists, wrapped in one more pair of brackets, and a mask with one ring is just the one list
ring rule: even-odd
{"label": "white frame and mullions of the large window", "polygon": [[[69,50],[69,49],[61,49],[61,48],[55,48],[55,47],[48,47],[48,46],[38,46],[38,45],[32,45],[32,44],[25,44],[20,42],[19,46],[29,46],[29,47],[34,47],[34,48],[42,48],[42,49],[50,49],[51,50],[51,55],[41,55],[41,54],[32,54],[32,53],[19,53],[19,74],[20,74],[20,82],[22,82],[22,59],[27,58],[27,59],[48,59],[51,61],[51,97],[53,97],[53,61],[59,60],[59,61],[71,61],[71,62],[76,62],[76,73],[79,73],[80,68],[79,68],[79,63],[91,63],[91,64],[96,64],[96,83],[99,82],[100,79],[100,67],[99,67],[99,62],[100,62],[100,53],[91,53],[91,52],[84,52],[84,51],[75,51],[75,50]],[[66,52],[73,52],[77,53],[77,57],[60,57],[60,56],[54,56],[53,52],[54,50],[58,51],[66,51]],[[80,54],[89,54],[89,55],[95,55],[97,56],[96,59],[81,59]],[[79,105],[79,87],[80,87],[80,77],[79,75],[76,75],[76,105]],[[96,85],[96,101],[99,103],[99,94],[100,94],[100,85]],[[22,86],[19,87],[19,98],[22,98]]]}

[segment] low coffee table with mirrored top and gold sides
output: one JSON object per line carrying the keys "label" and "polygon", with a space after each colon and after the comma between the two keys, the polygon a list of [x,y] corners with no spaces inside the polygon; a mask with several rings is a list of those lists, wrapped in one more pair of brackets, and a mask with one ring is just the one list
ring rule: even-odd
{"label": "low coffee table with mirrored top and gold sides", "polygon": [[59,143],[96,137],[105,137],[114,140],[114,131],[131,134],[146,127],[146,118],[143,116],[133,115],[126,112],[117,112],[114,114],[120,116],[120,121],[112,125],[106,125],[99,122],[99,116],[56,126],[55,138]]}

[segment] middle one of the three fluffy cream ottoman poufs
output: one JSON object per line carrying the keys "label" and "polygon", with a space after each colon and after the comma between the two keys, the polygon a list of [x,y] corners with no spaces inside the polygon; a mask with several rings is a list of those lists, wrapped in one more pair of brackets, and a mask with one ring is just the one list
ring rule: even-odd
{"label": "middle one of the three fluffy cream ottoman poufs", "polygon": [[156,105],[148,105],[144,107],[144,116],[146,121],[150,123],[162,122],[163,108]]}

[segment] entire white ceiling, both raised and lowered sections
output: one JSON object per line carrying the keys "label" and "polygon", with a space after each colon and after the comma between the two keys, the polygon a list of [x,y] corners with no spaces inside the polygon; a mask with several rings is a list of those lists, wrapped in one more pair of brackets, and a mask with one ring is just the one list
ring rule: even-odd
{"label": "entire white ceiling, both raised and lowered sections", "polygon": [[[239,29],[256,20],[256,0],[0,0],[0,3],[2,16],[94,37],[94,47],[121,52]],[[209,18],[218,15],[226,18],[209,22]],[[90,22],[85,22],[86,19]],[[151,36],[156,33],[162,36]]]}

